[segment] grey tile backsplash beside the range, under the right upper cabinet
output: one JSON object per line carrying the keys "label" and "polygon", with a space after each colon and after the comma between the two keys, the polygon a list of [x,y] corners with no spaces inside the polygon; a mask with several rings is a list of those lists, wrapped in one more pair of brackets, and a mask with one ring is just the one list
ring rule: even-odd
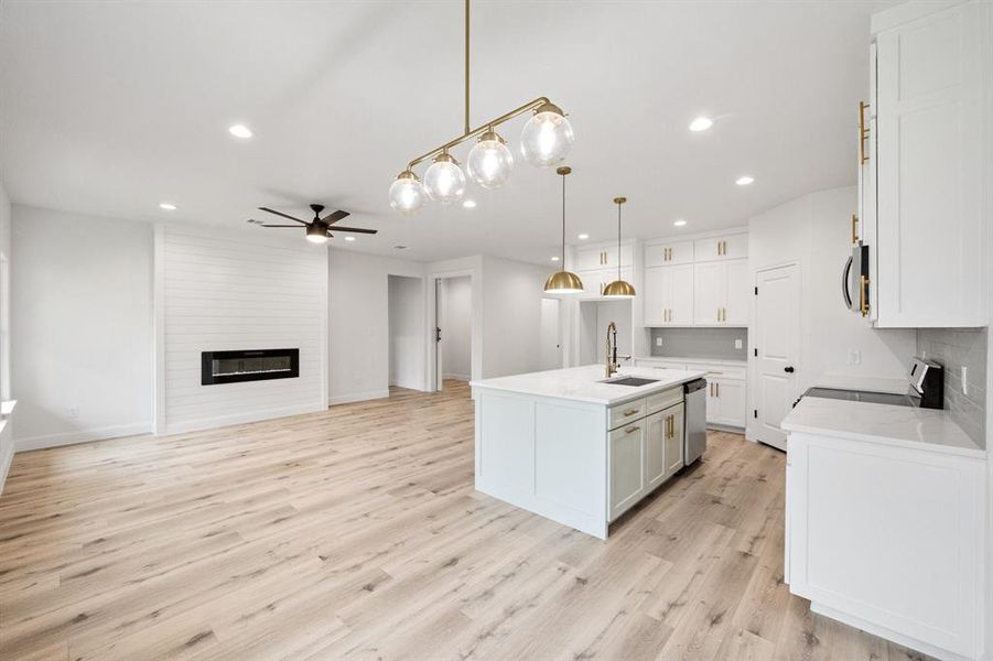
{"label": "grey tile backsplash beside the range, under the right upper cabinet", "polygon": [[980,447],[986,444],[987,340],[985,328],[917,330],[918,355],[945,366],[945,408]]}

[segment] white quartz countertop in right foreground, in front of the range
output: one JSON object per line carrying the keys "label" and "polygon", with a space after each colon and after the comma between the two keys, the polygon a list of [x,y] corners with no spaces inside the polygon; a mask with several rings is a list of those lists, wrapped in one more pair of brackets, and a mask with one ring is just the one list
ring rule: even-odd
{"label": "white quartz countertop in right foreground, in front of the range", "polygon": [[942,410],[805,397],[780,426],[788,432],[986,457]]}

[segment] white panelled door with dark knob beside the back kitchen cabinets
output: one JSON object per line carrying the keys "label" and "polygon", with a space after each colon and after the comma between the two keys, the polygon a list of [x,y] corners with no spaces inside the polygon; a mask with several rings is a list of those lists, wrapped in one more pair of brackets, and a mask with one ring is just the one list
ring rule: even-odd
{"label": "white panelled door with dark knob beside the back kitchen cabinets", "polygon": [[763,443],[786,449],[779,423],[797,397],[800,368],[800,270],[796,264],[755,275],[756,435]]}

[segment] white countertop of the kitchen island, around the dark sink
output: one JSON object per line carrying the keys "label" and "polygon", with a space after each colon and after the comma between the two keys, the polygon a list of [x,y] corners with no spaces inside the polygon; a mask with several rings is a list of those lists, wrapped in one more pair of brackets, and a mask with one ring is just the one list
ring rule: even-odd
{"label": "white countertop of the kitchen island, around the dark sink", "polygon": [[471,381],[469,386],[473,387],[474,391],[476,389],[504,390],[520,394],[551,397],[609,407],[702,378],[704,373],[702,371],[623,366],[620,371],[611,377],[611,379],[644,377],[646,379],[657,379],[657,381],[636,387],[614,386],[602,382],[606,379],[603,365],[586,365],[495,379],[482,379]]}

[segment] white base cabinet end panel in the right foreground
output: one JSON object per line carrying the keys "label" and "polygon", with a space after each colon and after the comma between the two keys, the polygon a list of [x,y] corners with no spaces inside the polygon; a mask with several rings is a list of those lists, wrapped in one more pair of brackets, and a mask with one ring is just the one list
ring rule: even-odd
{"label": "white base cabinet end panel in the right foreground", "polygon": [[799,433],[787,447],[790,592],[940,659],[979,658],[985,459]]}

